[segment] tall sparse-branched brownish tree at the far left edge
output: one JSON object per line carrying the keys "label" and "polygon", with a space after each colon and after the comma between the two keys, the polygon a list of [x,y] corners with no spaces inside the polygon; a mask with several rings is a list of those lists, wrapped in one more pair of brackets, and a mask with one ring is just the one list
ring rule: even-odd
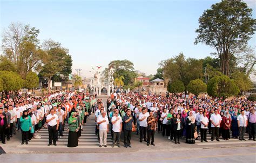
{"label": "tall sparse-branched brownish tree at the far left edge", "polygon": [[37,38],[39,30],[29,24],[11,23],[8,29],[3,31],[2,48],[4,55],[17,68],[21,77],[41,64],[43,51],[38,46]]}

